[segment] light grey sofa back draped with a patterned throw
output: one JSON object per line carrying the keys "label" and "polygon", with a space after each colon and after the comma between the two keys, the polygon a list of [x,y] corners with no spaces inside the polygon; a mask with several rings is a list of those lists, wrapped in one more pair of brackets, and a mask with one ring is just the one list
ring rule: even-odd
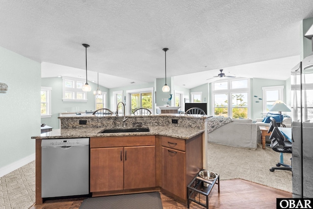
{"label": "light grey sofa back draped with a patterned throw", "polygon": [[232,119],[231,122],[208,131],[208,141],[227,146],[256,149],[256,124],[252,123],[252,119]]}

